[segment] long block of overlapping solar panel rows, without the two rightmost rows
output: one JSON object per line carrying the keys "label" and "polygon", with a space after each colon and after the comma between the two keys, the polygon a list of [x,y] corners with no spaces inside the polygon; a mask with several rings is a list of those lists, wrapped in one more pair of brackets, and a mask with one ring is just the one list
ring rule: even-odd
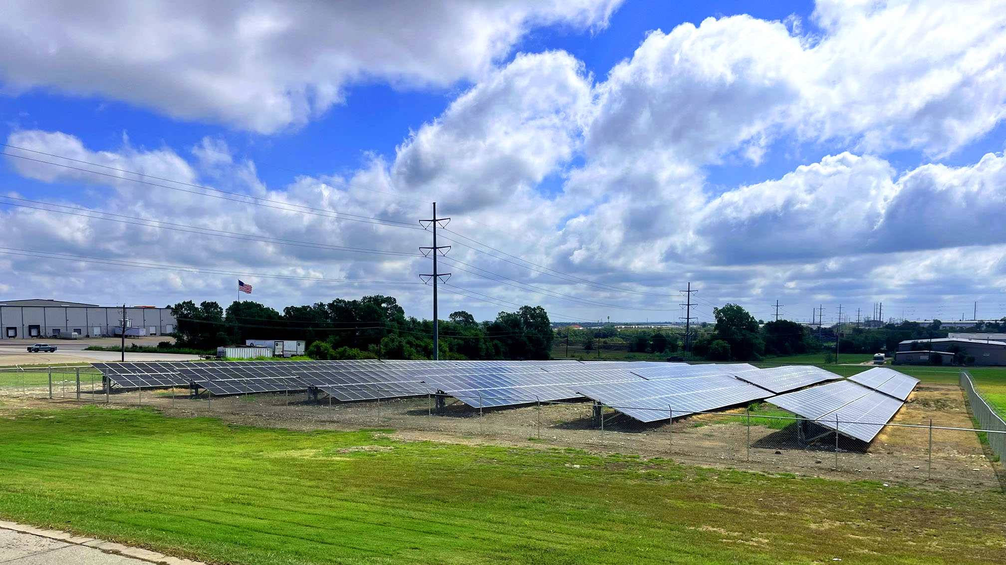
{"label": "long block of overlapping solar panel rows, without the two rightmost rows", "polygon": [[585,396],[642,421],[666,419],[669,407],[675,415],[685,415],[838,378],[823,369],[808,367],[756,369],[745,363],[644,361],[368,359],[94,365],[124,388],[191,386],[215,395],[307,389],[339,401],[445,394],[474,407]]}

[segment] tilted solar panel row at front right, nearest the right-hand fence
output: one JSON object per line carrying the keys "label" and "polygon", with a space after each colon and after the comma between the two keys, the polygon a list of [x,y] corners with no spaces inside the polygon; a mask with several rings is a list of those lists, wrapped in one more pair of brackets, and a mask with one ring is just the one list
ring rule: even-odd
{"label": "tilted solar panel row at front right, nearest the right-hand fence", "polygon": [[904,404],[848,380],[781,394],[768,400],[812,419],[818,425],[867,442],[876,437]]}

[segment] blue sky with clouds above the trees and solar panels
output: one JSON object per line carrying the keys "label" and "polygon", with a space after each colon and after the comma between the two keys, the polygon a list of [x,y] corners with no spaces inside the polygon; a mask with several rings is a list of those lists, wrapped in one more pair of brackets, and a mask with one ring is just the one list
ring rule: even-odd
{"label": "blue sky with clouds above the trees and solar panels", "polygon": [[[819,302],[870,309],[881,300],[917,318],[949,317],[973,301],[987,305],[985,317],[1006,315],[1006,241],[994,225],[1006,145],[999,2],[957,13],[923,0],[443,0],[404,14],[381,3],[310,2],[176,14],[151,2],[120,3],[113,29],[101,14],[64,14],[54,3],[25,19],[27,6],[0,29],[29,38],[0,44],[8,144],[359,216],[411,221],[428,215],[422,202],[438,199],[459,233],[512,255],[452,250],[490,273],[455,278],[496,299],[451,307],[479,318],[515,304],[572,319],[677,318],[676,289],[688,280],[702,289],[705,318],[726,301],[765,318],[777,298],[798,319]],[[140,24],[146,35],[134,30]],[[182,30],[190,35],[178,41]],[[19,198],[266,239],[423,243],[17,157],[5,159],[0,180]],[[981,213],[969,212],[976,202]],[[424,269],[422,260],[305,257],[275,241],[235,249],[154,227],[0,213],[18,226],[11,241],[39,252],[90,248],[322,278],[410,280]],[[121,229],[142,243],[110,237]],[[46,282],[60,269],[8,260],[0,295],[66,292]],[[542,265],[562,274],[545,275]],[[96,281],[119,268],[64,266],[89,289],[104,289]],[[90,300],[232,294],[229,277],[130,272],[149,284]],[[260,287],[278,308],[371,293]],[[401,301],[416,315],[430,306],[422,289],[401,291]]]}

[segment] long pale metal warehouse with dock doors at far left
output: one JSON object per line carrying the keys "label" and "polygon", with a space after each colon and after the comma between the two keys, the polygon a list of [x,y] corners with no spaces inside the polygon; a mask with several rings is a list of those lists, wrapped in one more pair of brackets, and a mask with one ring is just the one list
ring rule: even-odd
{"label": "long pale metal warehouse with dock doors at far left", "polygon": [[[122,326],[123,307],[102,307],[46,299],[0,301],[0,340],[112,336]],[[178,323],[169,308],[126,309],[127,327],[141,335],[162,336]]]}

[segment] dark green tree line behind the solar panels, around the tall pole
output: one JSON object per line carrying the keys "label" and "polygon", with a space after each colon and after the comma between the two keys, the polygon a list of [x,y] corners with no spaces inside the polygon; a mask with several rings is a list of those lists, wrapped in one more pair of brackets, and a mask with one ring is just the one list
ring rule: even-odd
{"label": "dark green tree line behind the solar panels, around the tall pole", "polygon": [[[406,317],[393,297],[291,306],[280,313],[252,302],[223,309],[215,302],[192,301],[171,308],[178,321],[175,346],[215,350],[245,340],[299,340],[315,359],[432,359],[433,321]],[[548,314],[540,306],[501,312],[477,322],[465,311],[440,321],[441,359],[548,359],[554,339]]]}

